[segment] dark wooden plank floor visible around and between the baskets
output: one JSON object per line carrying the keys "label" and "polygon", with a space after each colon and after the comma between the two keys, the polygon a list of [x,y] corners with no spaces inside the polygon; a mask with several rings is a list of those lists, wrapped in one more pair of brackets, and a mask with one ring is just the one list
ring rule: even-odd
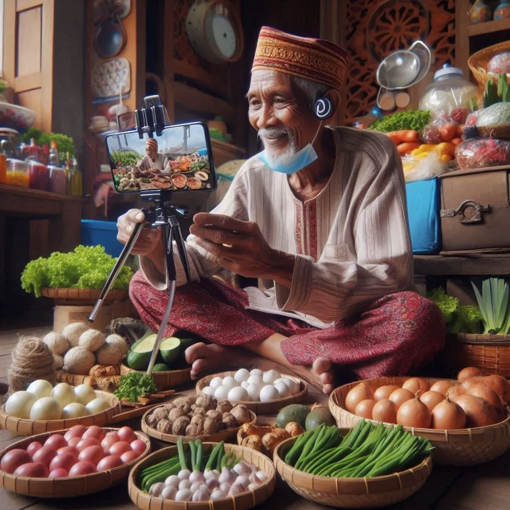
{"label": "dark wooden plank floor visible around and between the baskets", "polygon": [[[50,327],[23,329],[24,335],[43,336]],[[11,361],[11,351],[17,341],[18,331],[0,331],[0,383],[7,382],[7,370]],[[2,385],[3,386],[3,385]],[[187,389],[193,391],[193,385]],[[2,397],[3,398],[3,397]],[[316,390],[309,393],[309,401],[326,402]],[[259,417],[260,423],[271,423],[273,417]],[[126,423],[140,428],[140,422]],[[0,430],[0,448],[16,439],[7,430]],[[165,446],[155,441],[153,449]],[[34,499],[18,496],[0,489],[0,510],[134,510],[136,506],[127,494],[127,483],[108,491],[83,498]],[[321,506],[298,497],[288,486],[278,480],[273,496],[260,505],[263,510],[281,508],[282,510],[326,510]],[[483,466],[474,468],[445,468],[434,466],[430,478],[421,491],[402,503],[391,507],[391,510],[509,510],[510,509],[510,450]],[[389,508],[387,510],[390,510]]]}

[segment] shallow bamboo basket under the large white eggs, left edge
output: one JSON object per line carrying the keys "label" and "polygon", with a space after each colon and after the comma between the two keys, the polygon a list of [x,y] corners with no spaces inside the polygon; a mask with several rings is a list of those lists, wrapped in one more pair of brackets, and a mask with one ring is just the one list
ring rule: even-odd
{"label": "shallow bamboo basket under the large white eggs, left edge", "polygon": [[102,411],[93,415],[82,416],[81,418],[70,418],[68,420],[33,421],[8,415],[5,412],[4,404],[2,407],[0,407],[0,428],[5,428],[11,432],[14,432],[18,436],[31,436],[33,434],[42,434],[44,432],[55,432],[56,430],[70,428],[78,424],[84,425],[86,427],[90,425],[98,425],[99,427],[102,427],[107,423],[111,423],[113,421],[113,417],[120,413],[120,402],[119,399],[111,393],[97,390],[95,393],[98,397],[103,397],[104,399],[108,400],[112,406],[106,411]]}

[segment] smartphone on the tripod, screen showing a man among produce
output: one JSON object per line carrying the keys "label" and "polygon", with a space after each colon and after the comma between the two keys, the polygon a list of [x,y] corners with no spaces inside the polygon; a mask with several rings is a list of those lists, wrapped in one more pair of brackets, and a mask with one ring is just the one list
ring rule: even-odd
{"label": "smartphone on the tripod, screen showing a man among produce", "polygon": [[211,138],[203,122],[165,126],[160,136],[152,137],[140,136],[136,129],[118,132],[105,141],[119,193],[209,192],[217,187]]}

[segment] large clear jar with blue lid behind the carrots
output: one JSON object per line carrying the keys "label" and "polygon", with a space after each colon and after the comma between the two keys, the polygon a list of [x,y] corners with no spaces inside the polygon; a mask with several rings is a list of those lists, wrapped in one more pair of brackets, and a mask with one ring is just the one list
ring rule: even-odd
{"label": "large clear jar with blue lid behind the carrots", "polygon": [[478,101],[480,95],[479,88],[464,78],[462,69],[445,64],[434,73],[434,81],[425,89],[419,109],[430,110],[436,118],[451,115],[463,124],[471,113],[471,101]]}

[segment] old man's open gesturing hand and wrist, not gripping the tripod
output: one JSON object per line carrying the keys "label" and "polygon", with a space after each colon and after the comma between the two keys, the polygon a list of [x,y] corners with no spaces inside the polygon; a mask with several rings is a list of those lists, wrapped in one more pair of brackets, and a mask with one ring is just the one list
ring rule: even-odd
{"label": "old man's open gesturing hand and wrist, not gripping the tripod", "polygon": [[216,264],[241,276],[273,279],[290,287],[294,256],[267,244],[259,225],[222,214],[198,213],[190,233],[216,257]]}

